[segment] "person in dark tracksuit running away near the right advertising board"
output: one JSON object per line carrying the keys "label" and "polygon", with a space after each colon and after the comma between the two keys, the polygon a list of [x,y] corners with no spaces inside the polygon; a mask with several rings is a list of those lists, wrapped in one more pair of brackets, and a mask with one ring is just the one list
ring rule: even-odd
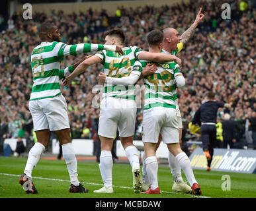
{"label": "person in dark tracksuit running away near the right advertising board", "polygon": [[214,154],[214,144],[216,141],[216,121],[219,107],[230,107],[230,104],[214,100],[214,92],[208,92],[207,101],[204,102],[194,114],[192,124],[200,125],[202,149],[207,159],[207,171],[210,171],[210,164]]}

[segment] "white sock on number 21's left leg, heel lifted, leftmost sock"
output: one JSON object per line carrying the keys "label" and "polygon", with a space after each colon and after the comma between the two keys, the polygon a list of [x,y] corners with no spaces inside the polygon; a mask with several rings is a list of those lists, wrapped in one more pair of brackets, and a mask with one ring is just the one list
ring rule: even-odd
{"label": "white sock on number 21's left leg, heel lifted, leftmost sock", "polygon": [[24,173],[28,175],[28,177],[32,177],[32,170],[40,160],[42,152],[44,152],[46,148],[43,144],[36,142],[34,146],[30,149],[28,153],[28,160],[26,161],[26,167]]}

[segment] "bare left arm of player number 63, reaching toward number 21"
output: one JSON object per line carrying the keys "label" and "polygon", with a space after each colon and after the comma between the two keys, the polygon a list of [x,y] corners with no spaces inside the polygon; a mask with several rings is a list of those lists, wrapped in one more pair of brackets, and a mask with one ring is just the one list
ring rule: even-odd
{"label": "bare left arm of player number 63, reaching toward number 21", "polygon": [[77,68],[71,73],[69,76],[65,77],[63,80],[64,86],[68,86],[72,80],[74,80],[78,75],[83,73],[90,65],[94,65],[97,63],[101,63],[101,58],[93,55],[88,59],[85,59],[82,63],[80,63]]}

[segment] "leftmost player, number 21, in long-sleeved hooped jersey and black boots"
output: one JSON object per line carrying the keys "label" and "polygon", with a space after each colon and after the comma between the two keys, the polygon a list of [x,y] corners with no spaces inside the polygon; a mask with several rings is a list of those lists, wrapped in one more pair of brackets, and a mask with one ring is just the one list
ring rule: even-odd
{"label": "leftmost player, number 21, in long-sleeved hooped jersey and black boots", "polygon": [[69,119],[67,104],[60,91],[60,78],[72,72],[72,67],[60,71],[60,62],[65,55],[76,55],[108,49],[122,53],[116,45],[77,44],[66,45],[60,42],[58,28],[51,23],[43,23],[38,29],[40,45],[36,46],[31,55],[33,76],[32,93],[29,110],[32,115],[37,142],[30,149],[24,173],[19,179],[26,193],[38,193],[32,183],[32,170],[40,160],[42,152],[50,141],[50,131],[54,131],[62,144],[63,157],[71,180],[69,193],[87,193],[77,179],[77,160],[69,136]]}

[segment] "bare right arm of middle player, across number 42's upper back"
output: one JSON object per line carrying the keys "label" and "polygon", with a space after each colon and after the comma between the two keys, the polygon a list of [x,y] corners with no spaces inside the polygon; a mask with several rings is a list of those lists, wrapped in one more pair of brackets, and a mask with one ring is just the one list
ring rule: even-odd
{"label": "bare right arm of middle player, across number 42's upper back", "polygon": [[142,51],[138,55],[138,59],[155,61],[155,62],[175,61],[176,63],[178,63],[181,66],[181,59],[179,59],[175,55],[171,55],[171,54],[167,54],[167,53],[150,53],[148,51]]}

